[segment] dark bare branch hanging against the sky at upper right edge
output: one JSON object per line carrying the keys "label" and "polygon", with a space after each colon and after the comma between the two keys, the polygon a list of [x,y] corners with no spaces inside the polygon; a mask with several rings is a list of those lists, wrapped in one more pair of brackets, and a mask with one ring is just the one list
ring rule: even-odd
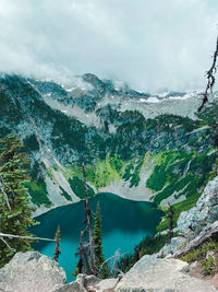
{"label": "dark bare branch hanging against the sky at upper right edge", "polygon": [[208,102],[208,95],[209,93],[213,93],[213,87],[215,85],[215,73],[217,72],[217,57],[218,57],[218,37],[217,37],[217,46],[216,46],[216,50],[214,52],[213,56],[213,65],[209,69],[209,71],[206,72],[207,75],[207,86],[206,90],[203,94],[203,101],[202,101],[202,105],[198,107],[197,112],[199,113],[202,110],[202,108],[204,107],[204,105]]}

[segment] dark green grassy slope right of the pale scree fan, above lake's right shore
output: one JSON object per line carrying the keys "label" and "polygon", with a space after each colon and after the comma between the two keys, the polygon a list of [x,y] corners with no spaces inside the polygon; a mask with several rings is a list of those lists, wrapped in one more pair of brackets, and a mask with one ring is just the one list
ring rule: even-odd
{"label": "dark green grassy slope right of the pale scree fan, above lake's right shore", "polygon": [[[175,209],[174,227],[180,213],[194,207],[204,186],[210,178],[210,172],[217,156],[216,152],[207,155],[210,150],[198,154],[169,150],[156,155],[158,156],[157,164],[146,183],[146,186],[155,192],[154,201],[156,205],[172,195],[175,199],[180,196],[186,198],[186,200],[173,205]],[[162,210],[166,212],[166,218],[157,226],[158,232],[166,230],[169,225],[168,208],[162,208]]]}

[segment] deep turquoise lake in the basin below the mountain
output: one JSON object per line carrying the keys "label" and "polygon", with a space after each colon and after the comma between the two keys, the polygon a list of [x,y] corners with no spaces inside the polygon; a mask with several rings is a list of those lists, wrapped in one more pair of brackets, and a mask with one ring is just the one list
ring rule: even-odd
{"label": "deep turquoise lake in the basin below the mountain", "polygon": [[[100,202],[102,224],[102,246],[105,258],[117,250],[121,254],[133,253],[134,246],[145,236],[154,235],[161,211],[149,202],[132,201],[113,194],[98,194],[89,200],[92,210],[96,211]],[[68,281],[78,260],[75,253],[78,246],[80,232],[84,229],[84,201],[53,209],[36,220],[40,222],[31,229],[37,236],[53,238],[58,224],[61,227],[61,256],[59,264],[66,272]],[[53,257],[55,243],[39,242],[33,247],[49,257]]]}

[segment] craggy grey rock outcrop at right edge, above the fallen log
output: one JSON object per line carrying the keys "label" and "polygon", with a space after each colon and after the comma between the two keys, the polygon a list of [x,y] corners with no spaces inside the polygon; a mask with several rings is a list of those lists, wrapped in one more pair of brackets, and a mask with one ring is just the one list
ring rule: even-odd
{"label": "craggy grey rock outcrop at right edge, above the fallen log", "polygon": [[192,240],[203,227],[218,220],[218,176],[205,187],[196,207],[182,212],[178,219],[179,234]]}

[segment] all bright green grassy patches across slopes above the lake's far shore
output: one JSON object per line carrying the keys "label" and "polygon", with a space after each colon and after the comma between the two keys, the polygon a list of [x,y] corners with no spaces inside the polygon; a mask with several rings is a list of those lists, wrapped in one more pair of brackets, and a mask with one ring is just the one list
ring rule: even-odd
{"label": "all bright green grassy patches across slopes above the lake's far shore", "polygon": [[[187,209],[187,206],[192,206],[193,201],[196,201],[202,187],[209,178],[209,172],[216,160],[216,153],[211,155],[207,155],[207,153],[196,155],[196,152],[183,152],[177,149],[162,151],[156,155],[147,154],[147,156],[149,156],[149,163],[153,161],[153,167],[155,167],[145,187],[154,191],[154,201],[156,205],[159,205],[161,200],[177,191],[174,196],[177,199],[182,195],[189,199],[187,202],[178,205],[178,209],[181,210]],[[190,161],[189,172],[183,176]],[[140,172],[144,163],[145,157],[126,162],[122,161],[119,155],[107,155],[104,161],[97,160],[95,164],[86,167],[87,182],[89,183],[89,196],[92,197],[95,195],[92,186],[98,190],[100,187],[105,187],[111,182],[119,183],[121,178],[125,182],[130,182],[130,187],[137,186],[141,179]],[[82,171],[70,166],[66,167],[64,175],[74,194],[83,198]],[[46,198],[46,187],[41,182],[38,184],[34,182],[28,183],[27,187],[32,195],[33,202],[38,206],[41,203],[49,206],[50,202]],[[62,191],[62,195],[66,198],[64,191]],[[70,197],[66,199],[70,200]]]}

